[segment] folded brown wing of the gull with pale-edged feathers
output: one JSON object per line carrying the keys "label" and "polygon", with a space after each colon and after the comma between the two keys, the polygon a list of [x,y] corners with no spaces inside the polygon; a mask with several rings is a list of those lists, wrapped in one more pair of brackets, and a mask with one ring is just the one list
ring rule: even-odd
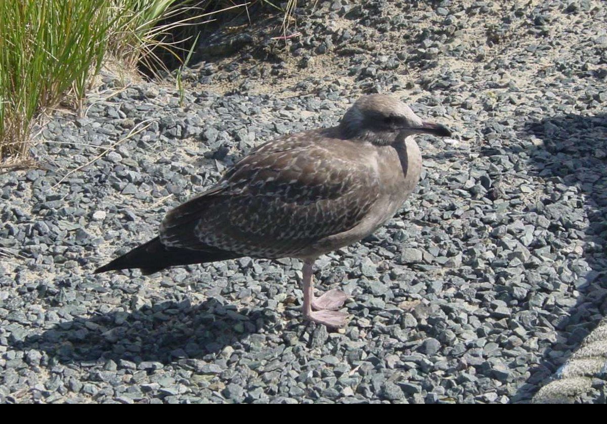
{"label": "folded brown wing of the gull with pale-edged feathers", "polygon": [[246,256],[296,254],[365,217],[379,193],[376,172],[349,148],[266,144],[214,188],[169,212],[160,239],[173,247]]}

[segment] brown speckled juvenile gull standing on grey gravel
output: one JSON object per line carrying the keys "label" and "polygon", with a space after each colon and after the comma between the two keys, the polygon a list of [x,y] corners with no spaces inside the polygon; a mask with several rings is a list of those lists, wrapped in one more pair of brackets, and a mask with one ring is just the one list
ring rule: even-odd
{"label": "brown speckled juvenile gull standing on grey gravel", "polygon": [[263,144],[214,187],[169,211],[158,237],[95,273],[141,268],[147,275],[242,256],[296,257],[304,262],[304,317],[343,326],[346,315],[337,310],[347,295],[333,289],[314,296],[314,261],[396,213],[419,181],[417,133],[450,136],[396,98],[364,96],[337,127]]}

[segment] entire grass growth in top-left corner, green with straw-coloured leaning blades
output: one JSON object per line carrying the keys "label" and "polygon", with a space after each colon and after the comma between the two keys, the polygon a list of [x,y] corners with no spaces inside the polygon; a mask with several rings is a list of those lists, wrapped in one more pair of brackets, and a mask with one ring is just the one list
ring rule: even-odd
{"label": "entire grass growth in top-left corner, green with straw-coloured leaning blades", "polygon": [[0,159],[22,157],[36,114],[77,107],[109,52],[134,64],[175,0],[0,1]]}

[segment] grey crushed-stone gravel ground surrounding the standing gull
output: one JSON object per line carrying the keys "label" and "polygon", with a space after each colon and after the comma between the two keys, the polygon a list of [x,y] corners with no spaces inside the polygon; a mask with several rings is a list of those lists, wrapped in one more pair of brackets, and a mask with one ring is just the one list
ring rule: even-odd
{"label": "grey crushed-stone gravel ground surrounding the standing gull", "polygon": [[[607,7],[412,3],[219,34],[183,107],[138,83],[57,113],[40,167],[0,175],[0,402],[605,403]],[[255,145],[376,91],[457,136],[419,137],[398,215],[317,261],[345,330],[302,321],[296,260],[91,274]]]}

